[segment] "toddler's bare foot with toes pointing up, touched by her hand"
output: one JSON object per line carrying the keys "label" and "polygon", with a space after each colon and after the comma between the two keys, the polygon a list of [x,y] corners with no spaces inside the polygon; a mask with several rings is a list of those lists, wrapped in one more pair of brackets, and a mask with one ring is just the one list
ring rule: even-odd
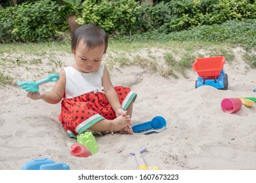
{"label": "toddler's bare foot with toes pointing up, touched by her hand", "polygon": [[121,114],[121,116],[113,120],[113,131],[120,131],[129,125],[131,128],[131,118],[125,111]]}

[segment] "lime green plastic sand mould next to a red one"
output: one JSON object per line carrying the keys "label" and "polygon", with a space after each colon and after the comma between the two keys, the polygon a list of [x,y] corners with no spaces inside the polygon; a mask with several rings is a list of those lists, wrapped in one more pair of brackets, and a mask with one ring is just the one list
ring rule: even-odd
{"label": "lime green plastic sand mould next to a red one", "polygon": [[98,144],[91,132],[85,132],[77,135],[77,142],[89,149],[92,154],[98,152]]}

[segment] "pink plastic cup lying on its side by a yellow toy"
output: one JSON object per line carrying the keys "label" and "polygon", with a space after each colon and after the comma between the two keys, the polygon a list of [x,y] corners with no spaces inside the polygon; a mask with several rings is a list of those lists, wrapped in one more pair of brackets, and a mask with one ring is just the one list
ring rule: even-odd
{"label": "pink plastic cup lying on its side by a yellow toy", "polygon": [[242,107],[242,101],[238,98],[226,98],[221,101],[221,108],[224,112],[233,113]]}

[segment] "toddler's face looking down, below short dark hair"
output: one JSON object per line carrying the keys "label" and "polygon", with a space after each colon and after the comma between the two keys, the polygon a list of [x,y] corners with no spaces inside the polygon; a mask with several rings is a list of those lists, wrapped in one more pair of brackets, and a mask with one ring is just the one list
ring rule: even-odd
{"label": "toddler's face looking down, below short dark hair", "polygon": [[75,66],[81,73],[91,73],[100,67],[100,63],[104,56],[105,46],[97,46],[88,50],[85,42],[79,42],[76,50],[73,50],[75,58]]}

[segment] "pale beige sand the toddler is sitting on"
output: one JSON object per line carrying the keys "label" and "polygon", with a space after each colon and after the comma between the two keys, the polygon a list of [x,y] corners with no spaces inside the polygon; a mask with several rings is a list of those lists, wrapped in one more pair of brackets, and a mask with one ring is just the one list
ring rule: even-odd
{"label": "pale beige sand the toddler is sitting on", "polygon": [[[17,58],[16,55],[6,55]],[[56,53],[64,63],[73,63],[71,54]],[[35,56],[35,58],[37,58]],[[49,65],[42,58],[39,68],[25,69],[28,64],[12,67],[10,73],[21,80],[39,80],[48,74]],[[42,69],[43,68],[43,69]],[[3,71],[5,68],[1,68]],[[45,69],[45,70],[44,70]],[[29,71],[28,71],[29,70]],[[68,137],[58,122],[60,103],[50,105],[32,101],[18,86],[0,86],[0,169],[18,170],[34,158],[64,161],[70,169],[138,169],[130,152],[145,147],[146,165],[167,169],[256,169],[256,105],[234,114],[223,112],[221,101],[226,97],[255,97],[256,69],[248,69],[236,53],[232,63],[224,64],[228,90],[211,86],[195,88],[197,73],[188,69],[188,78],[164,78],[139,65],[114,66],[110,70],[115,86],[128,86],[137,93],[133,107],[133,124],[162,116],[167,129],[161,133],[95,136],[99,150],[93,156],[71,155],[76,142]],[[41,86],[51,90],[53,83]]]}

